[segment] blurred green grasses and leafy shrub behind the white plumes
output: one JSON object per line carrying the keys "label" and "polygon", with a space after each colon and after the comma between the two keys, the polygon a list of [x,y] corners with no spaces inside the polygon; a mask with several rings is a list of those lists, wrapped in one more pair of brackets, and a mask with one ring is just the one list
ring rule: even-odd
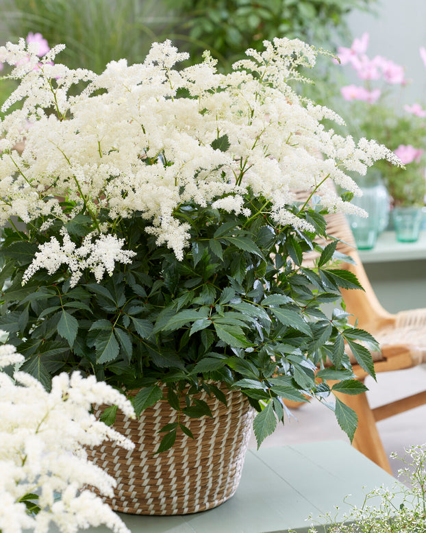
{"label": "blurred green grasses and leafy shrub behind the white plumes", "polygon": [[[151,42],[166,38],[191,58],[205,49],[229,71],[247,48],[274,37],[301,38],[331,51],[350,34],[347,17],[371,12],[377,0],[0,0],[0,41],[40,33],[50,46],[64,43],[60,61],[71,69],[103,71],[111,60],[141,62]],[[321,103],[331,82],[328,58],[316,68]],[[327,80],[327,84],[323,83]],[[0,84],[0,101],[10,94]]]}

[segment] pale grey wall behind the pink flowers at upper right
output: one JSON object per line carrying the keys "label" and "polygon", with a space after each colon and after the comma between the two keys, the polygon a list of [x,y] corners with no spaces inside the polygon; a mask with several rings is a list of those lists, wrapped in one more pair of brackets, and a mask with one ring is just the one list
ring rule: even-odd
{"label": "pale grey wall behind the pink flowers at upper right", "polygon": [[426,104],[426,68],[419,47],[426,48],[426,0],[379,0],[376,16],[352,12],[348,22],[353,36],[370,34],[368,56],[383,55],[406,67],[412,79],[404,90],[407,103]]}

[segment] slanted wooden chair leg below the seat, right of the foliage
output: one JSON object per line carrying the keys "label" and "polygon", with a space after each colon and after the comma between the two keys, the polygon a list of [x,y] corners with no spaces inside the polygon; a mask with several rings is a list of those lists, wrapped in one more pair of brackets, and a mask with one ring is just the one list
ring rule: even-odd
{"label": "slanted wooden chair leg below the seat, right of the foliage", "polygon": [[339,395],[339,397],[344,401],[344,404],[358,414],[358,426],[352,442],[353,447],[358,449],[368,459],[378,464],[379,467],[392,474],[388,456],[381,443],[376,421],[368,404],[366,393],[355,396]]}

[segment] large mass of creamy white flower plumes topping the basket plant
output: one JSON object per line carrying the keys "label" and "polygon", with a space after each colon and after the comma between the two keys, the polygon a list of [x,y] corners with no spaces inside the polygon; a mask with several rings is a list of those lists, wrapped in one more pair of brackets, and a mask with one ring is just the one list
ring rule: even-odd
{"label": "large mass of creamy white flower plumes topping the basket plant", "polygon": [[[323,117],[339,117],[305,105],[287,84],[300,77],[299,64],[313,66],[312,47],[286,38],[264,45],[262,53],[247,51],[251,58],[228,75],[216,72],[209,54],[201,64],[175,69],[187,56],[169,41],[155,43],[142,64],[113,61],[100,75],[48,64],[60,47],[36,71],[16,67],[21,85],[3,109],[21,99],[23,106],[0,124],[0,225],[14,215],[26,223],[43,216],[47,228],[86,208],[94,227],[114,233],[119,221],[136,214],[180,260],[189,234],[176,212],[186,203],[240,213],[249,192],[273,203],[276,223],[305,227],[288,210],[293,189],[312,190],[329,176],[359,194],[345,169],[365,173],[377,158],[397,162],[384,147],[366,140],[357,146],[325,129]],[[34,54],[23,42],[0,47],[3,62],[28,55]],[[86,88],[68,95],[81,80]],[[226,151],[214,142],[221,138],[229,142]],[[20,154],[13,147],[23,139]],[[71,214],[62,210],[63,198],[75,202]],[[351,210],[337,197],[329,206]],[[105,212],[106,224],[99,219]],[[66,254],[55,240],[49,247],[51,255]],[[121,247],[114,249],[123,258]],[[36,259],[27,277],[42,265]],[[86,267],[98,277],[104,267],[110,272],[103,259]]]}

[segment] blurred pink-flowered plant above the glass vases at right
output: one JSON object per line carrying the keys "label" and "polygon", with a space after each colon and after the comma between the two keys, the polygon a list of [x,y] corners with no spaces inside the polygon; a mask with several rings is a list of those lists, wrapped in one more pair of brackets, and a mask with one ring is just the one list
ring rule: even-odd
{"label": "blurred pink-flowered plant above the glass vases at right", "polygon": [[[351,66],[358,84],[342,86],[351,102],[351,126],[360,136],[373,137],[392,149],[405,169],[386,161],[375,165],[388,187],[395,206],[423,206],[425,186],[426,108],[420,103],[399,108],[401,90],[409,83],[403,66],[381,55],[367,55],[368,34],[355,38],[350,48],[338,48],[340,64]],[[420,49],[426,66],[426,50]]]}

